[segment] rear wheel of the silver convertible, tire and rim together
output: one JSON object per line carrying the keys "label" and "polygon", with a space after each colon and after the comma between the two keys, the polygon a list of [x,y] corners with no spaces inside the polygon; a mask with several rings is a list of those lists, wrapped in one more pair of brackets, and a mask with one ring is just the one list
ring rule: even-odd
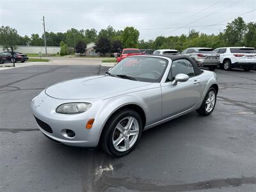
{"label": "rear wheel of the silver convertible, tire and rim together", "polygon": [[[214,94],[214,99],[210,99],[211,100],[210,101],[209,97],[212,98],[212,96],[211,96],[212,94]],[[202,102],[202,105],[200,106],[199,109],[196,110],[196,112],[202,116],[210,115],[215,108],[216,97],[217,97],[216,90],[214,88],[209,88],[209,90],[206,93],[205,98]],[[209,101],[210,101],[210,103],[209,103]],[[208,102],[208,104],[207,104],[207,102]],[[208,108],[209,106],[211,106],[211,108]]]}

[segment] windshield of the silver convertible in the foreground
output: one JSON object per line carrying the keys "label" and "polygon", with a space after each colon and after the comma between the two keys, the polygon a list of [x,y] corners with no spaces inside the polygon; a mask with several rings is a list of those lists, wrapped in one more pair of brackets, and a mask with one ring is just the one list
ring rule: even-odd
{"label": "windshield of the silver convertible in the foreground", "polygon": [[168,65],[168,60],[154,57],[129,57],[109,70],[110,76],[159,83]]}

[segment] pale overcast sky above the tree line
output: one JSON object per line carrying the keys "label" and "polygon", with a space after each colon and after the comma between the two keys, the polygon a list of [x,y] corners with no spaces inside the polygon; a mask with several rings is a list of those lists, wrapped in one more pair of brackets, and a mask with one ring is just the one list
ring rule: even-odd
{"label": "pale overcast sky above the tree line", "polygon": [[0,0],[0,26],[17,29],[22,36],[45,30],[100,29],[134,26],[140,40],[157,36],[188,35],[196,29],[217,34],[227,22],[243,17],[256,22],[256,0]]}

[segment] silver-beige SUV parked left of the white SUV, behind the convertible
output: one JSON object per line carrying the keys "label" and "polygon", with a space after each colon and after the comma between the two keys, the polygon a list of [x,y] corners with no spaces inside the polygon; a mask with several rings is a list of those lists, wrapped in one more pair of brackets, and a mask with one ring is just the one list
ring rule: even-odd
{"label": "silver-beige SUV parked left of the white SUV, behind the convertible", "polygon": [[214,70],[220,65],[220,55],[213,49],[207,47],[190,47],[181,53],[196,61],[199,67],[207,67]]}

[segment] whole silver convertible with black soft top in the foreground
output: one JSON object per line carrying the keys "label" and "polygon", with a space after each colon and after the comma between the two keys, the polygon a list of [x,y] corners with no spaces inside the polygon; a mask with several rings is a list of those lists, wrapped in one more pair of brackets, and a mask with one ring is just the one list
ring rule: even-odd
{"label": "whole silver convertible with black soft top in the foreground", "polygon": [[216,74],[187,56],[131,56],[104,75],[46,88],[31,110],[51,140],[124,156],[145,129],[193,110],[211,114],[217,93]]}

